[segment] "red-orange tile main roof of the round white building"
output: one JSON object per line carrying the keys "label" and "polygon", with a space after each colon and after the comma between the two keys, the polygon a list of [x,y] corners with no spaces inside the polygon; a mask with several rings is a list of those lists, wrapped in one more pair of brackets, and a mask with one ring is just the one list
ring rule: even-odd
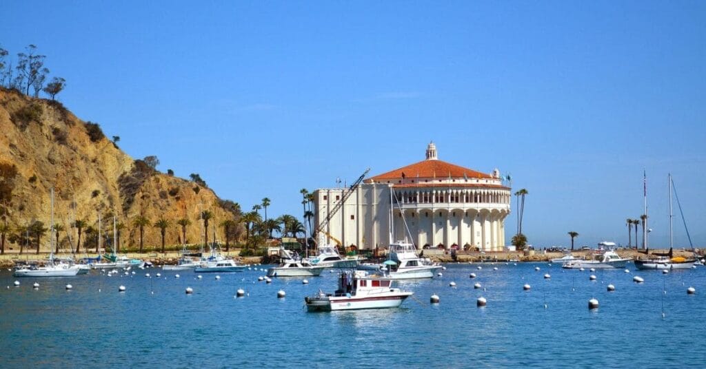
{"label": "red-orange tile main roof of the round white building", "polygon": [[390,179],[401,179],[401,178],[438,178],[445,179],[477,179],[477,178],[488,178],[491,179],[493,176],[490,174],[481,173],[479,171],[474,171],[473,169],[468,169],[464,167],[459,167],[458,165],[444,162],[443,160],[422,160],[421,162],[409,164],[407,167],[402,167],[395,169],[393,171],[388,171],[387,173],[378,174],[366,180],[370,181],[387,181]]}

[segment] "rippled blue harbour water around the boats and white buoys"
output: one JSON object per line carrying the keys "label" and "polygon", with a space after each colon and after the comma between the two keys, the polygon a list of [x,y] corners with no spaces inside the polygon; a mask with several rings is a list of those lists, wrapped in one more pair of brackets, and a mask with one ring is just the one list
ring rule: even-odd
{"label": "rippled blue harbour water around the boats and white buoys", "polygon": [[[302,278],[258,282],[265,274],[259,270],[223,273],[220,280],[159,269],[56,279],[16,279],[3,271],[0,366],[706,366],[704,267],[665,275],[636,271],[632,264],[629,274],[546,263],[481,266],[446,265],[443,277],[399,283],[415,294],[398,309],[333,313],[304,308],[304,296],[335,289],[336,273],[328,271],[309,277],[308,285]],[[597,280],[590,281],[590,274]],[[635,275],[645,282],[635,284]],[[456,287],[449,286],[452,281]],[[476,282],[483,288],[474,289]],[[69,283],[72,291],[64,289]],[[525,283],[530,291],[522,291]],[[616,291],[606,291],[607,284]],[[124,294],[120,285],[126,286]],[[184,293],[187,286],[192,295]],[[688,286],[695,295],[686,294]],[[239,288],[245,297],[235,297]],[[286,298],[277,298],[280,289]],[[441,303],[430,304],[432,294]],[[479,296],[487,298],[486,307],[477,308]],[[590,298],[599,300],[597,310],[587,308]]]}

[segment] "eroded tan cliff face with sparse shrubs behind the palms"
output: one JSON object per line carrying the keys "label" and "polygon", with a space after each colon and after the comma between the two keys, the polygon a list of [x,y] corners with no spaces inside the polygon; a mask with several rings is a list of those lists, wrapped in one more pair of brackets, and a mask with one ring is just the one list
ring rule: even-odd
{"label": "eroded tan cliff face with sparse shrubs behind the palms", "polygon": [[[186,241],[198,243],[202,238],[200,210],[213,212],[208,237],[213,238],[215,229],[220,241],[224,235],[217,224],[237,215],[222,205],[213,190],[159,173],[131,158],[105,138],[97,125],[81,121],[61,104],[4,89],[0,89],[0,162],[14,164],[18,171],[8,224],[17,229],[39,220],[48,227],[53,187],[54,222],[66,228],[59,234],[65,249],[70,240],[76,243],[77,230],[70,226],[73,221],[83,219],[97,229],[99,212],[104,235],[112,234],[113,216],[124,224],[121,247],[138,246],[139,231],[133,221],[140,215],[152,224],[160,218],[170,222],[167,245],[181,243],[178,219],[191,221]],[[47,236],[42,248],[48,249]],[[160,229],[145,227],[144,243],[147,248],[160,246]]]}

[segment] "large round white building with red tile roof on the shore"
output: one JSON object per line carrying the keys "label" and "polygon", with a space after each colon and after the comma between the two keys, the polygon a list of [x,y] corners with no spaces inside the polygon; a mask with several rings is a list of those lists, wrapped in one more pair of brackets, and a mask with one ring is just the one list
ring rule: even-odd
{"label": "large round white building with red tile roof on the shore", "polygon": [[[314,191],[317,226],[347,190]],[[443,162],[429,143],[425,160],[361,183],[323,232],[342,246],[368,250],[406,240],[417,248],[499,251],[505,246],[511,197],[498,169],[484,174]]]}

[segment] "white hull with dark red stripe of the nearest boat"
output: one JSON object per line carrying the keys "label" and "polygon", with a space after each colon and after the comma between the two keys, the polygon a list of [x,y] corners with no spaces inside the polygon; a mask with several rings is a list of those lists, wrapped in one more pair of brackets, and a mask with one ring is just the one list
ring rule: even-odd
{"label": "white hull with dark red stripe of the nearest boat", "polygon": [[400,292],[385,296],[325,296],[306,298],[306,309],[314,311],[361,310],[398,308],[412,292]]}

